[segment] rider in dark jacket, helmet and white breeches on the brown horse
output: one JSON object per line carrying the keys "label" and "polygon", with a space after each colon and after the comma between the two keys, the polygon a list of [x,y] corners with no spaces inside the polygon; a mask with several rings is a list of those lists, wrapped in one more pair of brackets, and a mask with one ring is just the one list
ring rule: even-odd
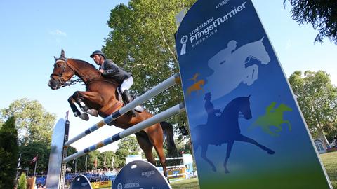
{"label": "rider in dark jacket, helmet and white breeches on the brown horse", "polygon": [[130,89],[133,84],[131,73],[121,69],[117,64],[114,64],[111,59],[105,59],[104,53],[100,50],[93,51],[90,57],[93,58],[93,61],[96,64],[100,65],[99,70],[100,73],[102,73],[102,76],[112,78],[118,83],[124,99],[124,105],[130,103],[133,99],[130,93],[128,93],[128,89]]}

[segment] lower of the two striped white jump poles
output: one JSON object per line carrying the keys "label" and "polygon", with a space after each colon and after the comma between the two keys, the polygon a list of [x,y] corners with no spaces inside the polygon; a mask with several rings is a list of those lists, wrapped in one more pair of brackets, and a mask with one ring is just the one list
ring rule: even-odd
{"label": "lower of the two striped white jump poles", "polygon": [[152,118],[148,118],[147,120],[144,120],[141,123],[138,123],[136,125],[133,125],[132,127],[119,132],[117,134],[112,135],[112,137],[108,137],[107,139],[100,141],[98,144],[95,144],[93,146],[90,146],[88,148],[85,148],[82,151],[79,151],[77,153],[74,153],[67,158],[64,158],[62,163],[69,162],[70,160],[74,160],[75,158],[78,158],[82,155],[85,155],[86,153],[89,153],[91,151],[95,151],[98,148],[101,148],[103,146],[107,146],[108,144],[113,143],[114,141],[118,141],[119,139],[123,139],[124,137],[128,137],[131,134],[134,134],[136,132],[140,132],[141,130],[144,130],[146,127],[150,127],[151,125],[154,125],[156,123],[161,122],[162,120],[166,120],[168,118],[171,118],[172,116],[176,116],[180,112],[185,111],[185,104],[180,103],[176,106],[171,107],[170,109],[167,109],[166,111],[162,111],[161,113],[158,113],[157,115],[153,116]]}

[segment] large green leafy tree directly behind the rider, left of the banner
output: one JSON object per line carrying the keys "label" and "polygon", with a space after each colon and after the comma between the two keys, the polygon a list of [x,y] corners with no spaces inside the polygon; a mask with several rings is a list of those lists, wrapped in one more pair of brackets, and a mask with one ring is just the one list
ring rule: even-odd
{"label": "large green leafy tree directly behind the rider, left of the banner", "polygon": [[[139,95],[178,73],[175,16],[190,8],[196,0],[131,0],[111,10],[107,25],[112,29],[105,39],[103,52],[119,66],[133,73],[131,90]],[[158,113],[183,102],[182,89],[172,87],[145,103],[151,113]],[[183,125],[186,117],[176,116],[172,123]]]}

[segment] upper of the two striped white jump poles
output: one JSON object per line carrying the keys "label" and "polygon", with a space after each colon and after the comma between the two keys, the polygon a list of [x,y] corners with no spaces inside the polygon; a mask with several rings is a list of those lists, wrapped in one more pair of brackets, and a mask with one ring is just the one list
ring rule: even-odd
{"label": "upper of the two striped white jump poles", "polygon": [[65,146],[70,146],[70,144],[74,143],[75,141],[85,137],[86,135],[90,134],[91,132],[98,130],[100,127],[103,127],[104,125],[107,125],[107,123],[112,122],[113,120],[116,120],[119,118],[119,116],[124,115],[128,111],[131,111],[131,109],[135,108],[139,104],[143,104],[147,100],[151,99],[152,97],[156,96],[157,94],[163,92],[164,90],[168,89],[169,87],[172,87],[173,85],[176,85],[177,83],[180,83],[180,76],[178,73],[171,76],[170,78],[164,80],[163,82],[159,83],[155,87],[153,87],[151,90],[148,90],[140,97],[137,97],[129,104],[126,104],[123,108],[119,109],[119,111],[115,111],[110,116],[107,116],[100,122],[96,123],[95,125],[91,126],[84,132],[81,132],[76,137],[70,139],[69,141],[65,142]]}

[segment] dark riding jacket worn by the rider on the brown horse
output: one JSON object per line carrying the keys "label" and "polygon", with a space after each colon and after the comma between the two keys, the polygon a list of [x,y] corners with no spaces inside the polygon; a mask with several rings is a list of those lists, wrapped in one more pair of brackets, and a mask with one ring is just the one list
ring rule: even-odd
{"label": "dark riding jacket worn by the rider on the brown horse", "polygon": [[102,73],[103,76],[112,78],[113,80],[117,81],[119,85],[123,83],[124,80],[130,78],[132,75],[121,69],[117,64],[114,64],[111,59],[105,59],[103,64],[100,65],[100,69],[103,69],[104,72]]}

